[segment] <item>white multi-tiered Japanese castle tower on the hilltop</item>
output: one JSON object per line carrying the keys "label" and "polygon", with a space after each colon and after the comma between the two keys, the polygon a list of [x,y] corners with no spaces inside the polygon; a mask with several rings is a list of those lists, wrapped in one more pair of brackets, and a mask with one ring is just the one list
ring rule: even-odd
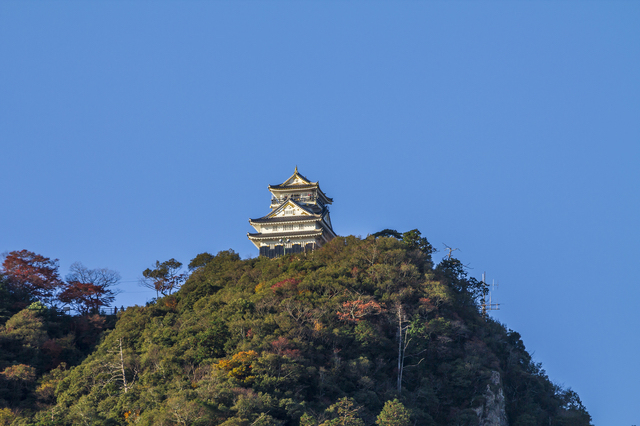
{"label": "white multi-tiered Japanese castle tower on the hilltop", "polygon": [[280,185],[269,185],[271,213],[260,219],[249,219],[256,233],[247,236],[260,250],[260,256],[278,257],[322,247],[335,236],[329,218],[333,200],[298,173]]}

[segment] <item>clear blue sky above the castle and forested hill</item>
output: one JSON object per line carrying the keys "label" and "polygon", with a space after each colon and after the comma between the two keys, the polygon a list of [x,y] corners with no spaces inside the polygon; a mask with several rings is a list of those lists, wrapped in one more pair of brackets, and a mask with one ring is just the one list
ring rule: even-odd
{"label": "clear blue sky above the castle and forested hill", "polygon": [[[640,424],[640,3],[0,3],[0,252],[257,255],[298,165],[338,234],[419,228],[498,280],[597,425]],[[436,255],[441,258],[444,252]]]}

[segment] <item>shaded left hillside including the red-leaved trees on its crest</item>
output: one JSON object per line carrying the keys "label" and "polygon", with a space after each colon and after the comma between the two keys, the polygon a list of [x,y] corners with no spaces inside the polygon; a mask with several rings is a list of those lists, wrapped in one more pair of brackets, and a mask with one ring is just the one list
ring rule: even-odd
{"label": "shaded left hillside including the red-leaved trees on its crest", "polygon": [[[23,424],[35,410],[55,402],[50,378],[80,364],[113,328],[116,317],[100,315],[113,300],[109,287],[119,279],[108,269],[71,265],[67,280],[57,259],[28,250],[0,255],[0,426]],[[91,281],[90,283],[88,281]],[[72,305],[82,315],[59,309]]]}

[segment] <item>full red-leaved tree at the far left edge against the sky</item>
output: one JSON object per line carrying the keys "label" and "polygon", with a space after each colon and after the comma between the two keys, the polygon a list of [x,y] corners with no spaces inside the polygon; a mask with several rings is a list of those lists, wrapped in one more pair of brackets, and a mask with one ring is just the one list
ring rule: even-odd
{"label": "full red-leaved tree at the far left edge against the sky", "polygon": [[2,263],[9,288],[23,298],[50,304],[64,285],[58,275],[58,259],[28,250],[12,251]]}

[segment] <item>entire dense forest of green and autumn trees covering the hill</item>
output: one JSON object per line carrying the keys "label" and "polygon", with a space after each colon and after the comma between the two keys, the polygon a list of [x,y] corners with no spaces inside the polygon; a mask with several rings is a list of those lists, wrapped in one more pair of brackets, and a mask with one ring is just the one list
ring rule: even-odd
{"label": "entire dense forest of green and autumn trees covering the hill", "polygon": [[47,293],[5,259],[0,426],[590,425],[481,314],[484,284],[432,254],[417,230],[277,259],[202,253],[188,276],[146,270],[158,298],[116,315],[99,309],[109,284],[69,315],[57,295],[90,280],[32,274],[58,279]]}

